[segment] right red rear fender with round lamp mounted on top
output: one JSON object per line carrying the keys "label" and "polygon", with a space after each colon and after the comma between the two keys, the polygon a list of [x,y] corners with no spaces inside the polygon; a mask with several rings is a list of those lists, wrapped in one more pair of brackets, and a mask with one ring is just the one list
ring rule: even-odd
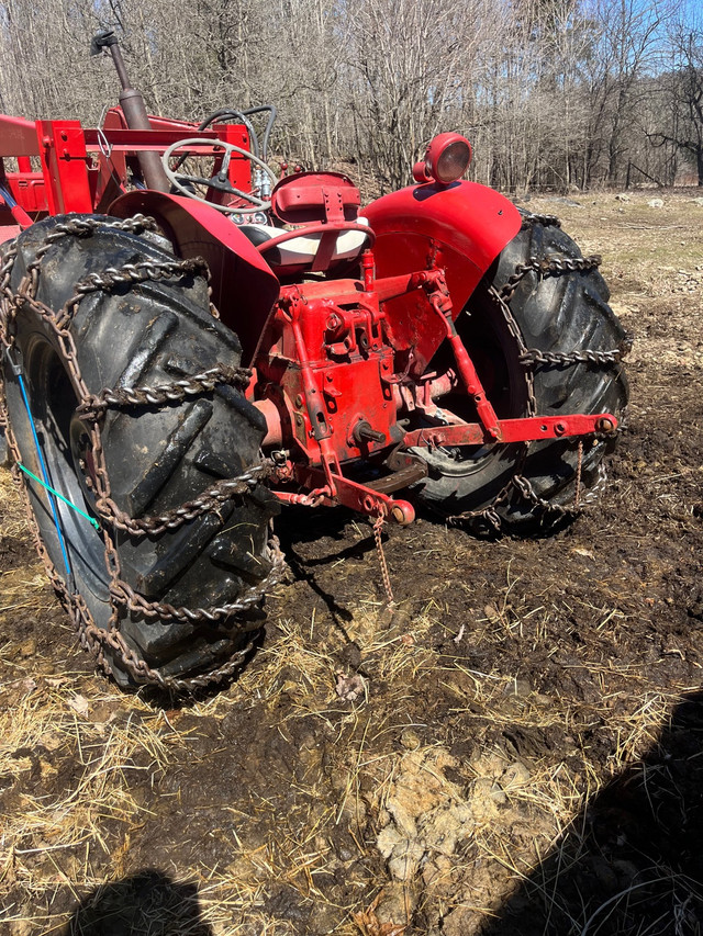
{"label": "right red rear fender with round lamp mounted on top", "polygon": [[[476,182],[411,185],[361,214],[376,233],[377,275],[444,269],[455,318],[522,223],[512,202]],[[391,300],[387,315],[398,348],[412,350],[410,375],[420,377],[446,335],[442,323],[419,292]]]}

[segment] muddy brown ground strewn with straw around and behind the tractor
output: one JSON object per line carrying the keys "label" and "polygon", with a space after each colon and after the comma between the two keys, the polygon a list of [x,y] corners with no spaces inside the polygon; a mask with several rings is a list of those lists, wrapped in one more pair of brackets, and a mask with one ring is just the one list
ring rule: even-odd
{"label": "muddy brown ground strewn with straw around and behind the tractor", "polygon": [[527,204],[636,338],[601,500],[551,538],[391,530],[392,616],[368,525],[289,515],[265,640],[210,698],[93,670],[1,472],[2,933],[701,933],[695,195]]}

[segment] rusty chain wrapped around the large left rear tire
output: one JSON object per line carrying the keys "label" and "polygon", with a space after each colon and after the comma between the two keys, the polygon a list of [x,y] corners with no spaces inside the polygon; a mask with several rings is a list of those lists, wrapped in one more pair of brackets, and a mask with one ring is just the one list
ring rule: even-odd
{"label": "rusty chain wrapped around the large left rear tire", "polygon": [[[104,229],[105,227],[126,230],[131,234],[142,234],[145,230],[157,229],[154,219],[144,217],[143,215],[136,215],[135,217],[126,221],[112,223],[105,223],[104,221],[97,218],[76,218],[58,224],[52,234],[45,238],[45,243],[36,252],[34,261],[27,267],[27,277],[25,277],[20,284],[20,292],[16,294],[10,289],[10,279],[18,253],[16,245],[13,243],[9,249],[5,249],[0,253],[0,259],[2,260],[2,266],[0,266],[0,340],[5,351],[9,351],[12,348],[13,339],[10,335],[10,326],[18,311],[24,306],[29,306],[29,308],[38,315],[40,318],[54,331],[64,353],[66,364],[68,365],[74,386],[80,398],[79,409],[81,410],[81,416],[86,421],[92,424],[90,436],[96,475],[94,483],[92,478],[87,476],[86,481],[96,492],[98,514],[101,519],[107,520],[111,526],[126,530],[132,535],[155,535],[166,530],[174,530],[202,514],[216,512],[224,501],[236,495],[249,492],[258,481],[271,474],[275,465],[271,461],[264,460],[259,465],[254,465],[238,477],[224,478],[202,492],[193,500],[188,501],[178,508],[166,511],[158,517],[142,519],[129,517],[121,511],[111,499],[110,481],[100,436],[100,422],[104,416],[105,409],[111,406],[124,405],[167,405],[172,402],[185,399],[190,395],[210,392],[220,383],[243,386],[245,382],[248,383],[250,372],[243,368],[225,368],[224,365],[217,364],[209,371],[196,374],[187,380],[177,381],[169,385],[135,387],[133,390],[127,388],[119,391],[107,388],[97,395],[90,394],[80,373],[74,338],[68,331],[68,325],[70,324],[75,309],[83,296],[89,292],[97,290],[109,291],[119,283],[145,282],[147,280],[176,279],[182,275],[207,274],[207,266],[204,261],[199,258],[185,261],[168,261],[165,263],[147,261],[144,263],[126,264],[126,267],[122,269],[109,268],[105,271],[108,275],[99,277],[97,274],[92,274],[86,281],[79,283],[76,287],[76,295],[66,303],[58,316],[55,315],[52,309],[47,308],[36,300],[40,262],[42,257],[51,248],[52,244],[62,237],[88,237],[98,228]],[[2,387],[0,385],[0,390],[1,388]],[[8,444],[12,451],[14,461],[19,463],[21,462],[21,453],[7,418],[4,394],[0,394],[0,422],[4,422],[5,425]],[[26,495],[25,484],[20,476],[20,472],[16,466],[13,467],[13,474],[22,489],[25,510],[30,522],[30,529],[33,533],[35,548],[47,570],[51,584],[58,595],[62,605],[74,620],[80,645],[92,654],[96,662],[103,670],[109,675],[112,675],[112,667],[104,654],[104,649],[107,646],[114,651],[124,669],[130,673],[137,684],[157,685],[163,689],[175,692],[192,692],[198,689],[205,689],[209,686],[222,683],[224,679],[241,669],[254,645],[256,634],[254,634],[244,647],[230,655],[227,661],[215,669],[185,678],[165,676],[159,673],[158,669],[149,667],[146,661],[137,656],[125,641],[120,631],[120,608],[122,607],[127,610],[135,611],[152,620],[179,620],[192,622],[207,621],[209,623],[221,621],[232,614],[242,613],[243,611],[246,611],[259,604],[266,591],[277,585],[284,575],[287,568],[286,561],[276,537],[271,535],[267,544],[267,559],[270,562],[271,567],[263,582],[257,586],[249,588],[237,601],[213,608],[193,609],[182,607],[176,608],[169,604],[148,601],[143,595],[134,591],[134,589],[121,578],[120,559],[110,534],[103,529],[102,537],[105,544],[105,565],[111,579],[110,598],[112,605],[112,614],[109,628],[108,630],[104,630],[96,624],[82,597],[78,593],[69,591],[64,579],[58,575],[42,540],[36,517],[34,516],[34,511],[31,508],[30,500]],[[246,633],[246,629],[244,628],[241,628],[241,631],[242,633]]]}

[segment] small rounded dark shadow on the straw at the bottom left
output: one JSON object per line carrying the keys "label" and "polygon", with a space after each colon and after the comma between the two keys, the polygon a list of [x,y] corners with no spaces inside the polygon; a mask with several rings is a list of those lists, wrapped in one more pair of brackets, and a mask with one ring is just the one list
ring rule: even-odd
{"label": "small rounded dark shadow on the straw at the bottom left", "polygon": [[145,870],[89,893],[62,936],[214,936],[200,914],[196,884]]}

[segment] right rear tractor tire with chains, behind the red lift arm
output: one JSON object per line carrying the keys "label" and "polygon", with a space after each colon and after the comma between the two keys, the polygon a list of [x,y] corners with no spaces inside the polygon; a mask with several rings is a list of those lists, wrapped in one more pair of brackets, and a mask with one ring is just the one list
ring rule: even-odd
{"label": "right rear tractor tire with chains, behind the red lift arm", "polygon": [[[457,319],[500,418],[612,413],[622,418],[631,340],[607,305],[598,260],[584,259],[556,218],[525,214]],[[442,352],[440,352],[442,353]],[[438,362],[436,370],[440,371]],[[476,420],[455,393],[440,405]],[[419,498],[477,532],[548,530],[593,500],[614,439],[454,447],[421,452]]]}

